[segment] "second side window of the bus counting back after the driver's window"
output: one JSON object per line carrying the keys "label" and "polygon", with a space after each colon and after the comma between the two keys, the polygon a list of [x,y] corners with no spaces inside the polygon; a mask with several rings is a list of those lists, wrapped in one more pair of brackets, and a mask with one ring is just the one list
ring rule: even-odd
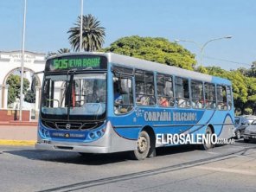
{"label": "second side window of the bus counting back after the driver's window", "polygon": [[171,76],[157,74],[157,98],[158,106],[174,106]]}

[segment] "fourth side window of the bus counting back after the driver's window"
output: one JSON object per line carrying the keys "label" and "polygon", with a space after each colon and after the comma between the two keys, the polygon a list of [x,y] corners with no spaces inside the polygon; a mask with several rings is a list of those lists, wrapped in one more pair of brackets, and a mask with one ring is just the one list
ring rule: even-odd
{"label": "fourth side window of the bus counting back after the driver's window", "polygon": [[202,92],[202,82],[191,80],[192,107],[202,109],[204,107],[204,99]]}

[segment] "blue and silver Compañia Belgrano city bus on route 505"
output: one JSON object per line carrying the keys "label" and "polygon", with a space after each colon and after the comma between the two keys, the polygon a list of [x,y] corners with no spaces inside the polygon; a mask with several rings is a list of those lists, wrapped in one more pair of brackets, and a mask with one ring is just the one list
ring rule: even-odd
{"label": "blue and silver Compa\u00f1ia Belgrano city bus on route 505", "polygon": [[234,136],[229,80],[120,54],[48,58],[40,108],[39,150],[144,159],[170,145],[157,134]]}

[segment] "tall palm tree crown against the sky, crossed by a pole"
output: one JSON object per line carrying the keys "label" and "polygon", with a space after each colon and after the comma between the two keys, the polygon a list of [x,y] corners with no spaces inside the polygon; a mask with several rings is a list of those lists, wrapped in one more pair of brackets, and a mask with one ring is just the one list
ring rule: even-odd
{"label": "tall palm tree crown against the sky, crossed by a pole", "polygon": [[[96,51],[102,47],[105,37],[105,28],[100,27],[100,22],[91,14],[83,16],[83,33],[82,33],[82,48],[85,51]],[[80,16],[74,23],[74,28],[70,28],[67,33],[70,33],[68,40],[74,49],[80,49]]]}

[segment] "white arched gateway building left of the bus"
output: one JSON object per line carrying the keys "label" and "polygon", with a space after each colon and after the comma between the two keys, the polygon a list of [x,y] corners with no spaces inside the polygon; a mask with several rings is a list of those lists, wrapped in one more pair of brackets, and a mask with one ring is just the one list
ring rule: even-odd
{"label": "white arched gateway building left of the bus", "polygon": [[[31,77],[32,74],[44,70],[46,54],[38,54],[25,51],[24,56],[24,77]],[[22,51],[0,51],[0,109],[8,109],[8,88],[6,80],[10,74],[19,74],[21,72]],[[38,85],[35,86],[35,112],[39,111],[39,99],[41,95],[42,74],[35,74]],[[31,85],[31,82],[30,82]],[[24,103],[24,108],[28,105]]]}

